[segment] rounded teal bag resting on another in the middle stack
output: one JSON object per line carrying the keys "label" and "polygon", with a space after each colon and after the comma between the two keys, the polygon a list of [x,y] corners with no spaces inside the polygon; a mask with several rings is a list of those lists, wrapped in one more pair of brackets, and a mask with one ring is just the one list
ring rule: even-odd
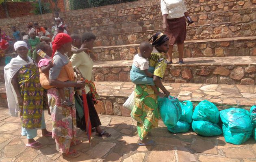
{"label": "rounded teal bag resting on another in the middle stack", "polygon": [[219,123],[219,110],[212,102],[203,100],[195,107],[192,118],[217,124]]}

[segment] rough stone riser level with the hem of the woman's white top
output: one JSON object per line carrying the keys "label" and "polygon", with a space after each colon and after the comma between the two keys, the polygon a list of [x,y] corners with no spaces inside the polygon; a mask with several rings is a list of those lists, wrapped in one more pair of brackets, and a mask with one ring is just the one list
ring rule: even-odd
{"label": "rough stone riser level with the hem of the woman's white top", "polygon": [[[160,7],[160,6],[159,6]],[[228,11],[214,11],[214,12],[207,12],[207,13],[191,13],[190,16],[192,17],[194,23],[193,25],[205,25],[205,24],[212,24],[218,22],[236,22],[236,21],[243,21],[247,22],[249,20],[256,19],[256,13],[254,12],[256,6],[251,7],[249,9],[234,9]],[[86,30],[94,30],[94,28],[108,28],[114,29],[116,27],[122,27],[122,29],[127,32],[126,28],[130,28],[132,23],[139,22],[140,24],[144,22],[145,24],[148,20],[162,20],[161,9],[158,7],[152,6],[150,12],[141,11],[134,13],[132,15],[102,15],[102,17],[98,19],[89,19],[88,17],[84,17],[85,19],[81,19],[81,17],[67,17],[65,18],[66,21],[69,22],[69,30],[76,30],[76,28],[86,28]],[[82,22],[82,23],[81,23]],[[139,26],[139,24],[138,24]],[[73,28],[74,29],[73,29]]]}

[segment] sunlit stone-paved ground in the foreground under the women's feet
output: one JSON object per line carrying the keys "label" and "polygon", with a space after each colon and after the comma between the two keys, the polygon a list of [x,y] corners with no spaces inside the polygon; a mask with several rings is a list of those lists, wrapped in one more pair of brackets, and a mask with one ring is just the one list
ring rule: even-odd
{"label": "sunlit stone-paved ground in the foreground under the women's feet", "polygon": [[[112,136],[102,139],[93,136],[91,147],[84,132],[78,130],[78,139],[84,140],[74,147],[82,152],[75,159],[63,158],[56,151],[51,137],[41,137],[39,149],[25,147],[26,138],[20,136],[20,119],[10,117],[8,109],[0,108],[0,162],[256,162],[256,144],[249,139],[243,145],[226,143],[223,136],[202,137],[193,132],[171,134],[163,123],[152,130],[154,147],[138,147],[136,124],[130,117],[100,115],[102,128]],[[51,129],[50,115],[46,125]]]}

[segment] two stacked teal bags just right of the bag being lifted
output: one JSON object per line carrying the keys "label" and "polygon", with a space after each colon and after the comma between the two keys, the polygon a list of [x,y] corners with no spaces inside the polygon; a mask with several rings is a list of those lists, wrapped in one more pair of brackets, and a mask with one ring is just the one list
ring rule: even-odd
{"label": "two stacked teal bags just right of the bag being lifted", "polygon": [[184,133],[188,132],[190,129],[190,124],[192,122],[193,114],[193,104],[191,101],[180,102],[180,107],[182,110],[182,115],[174,127],[167,127],[167,129],[172,133]]}

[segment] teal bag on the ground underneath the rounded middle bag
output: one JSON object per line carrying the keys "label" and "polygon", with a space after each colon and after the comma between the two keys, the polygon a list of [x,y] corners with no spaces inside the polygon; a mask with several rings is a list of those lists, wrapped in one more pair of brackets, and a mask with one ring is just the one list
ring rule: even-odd
{"label": "teal bag on the ground underneath the rounded middle bag", "polygon": [[193,121],[192,129],[201,136],[219,136],[222,134],[222,130],[217,124],[203,120]]}

